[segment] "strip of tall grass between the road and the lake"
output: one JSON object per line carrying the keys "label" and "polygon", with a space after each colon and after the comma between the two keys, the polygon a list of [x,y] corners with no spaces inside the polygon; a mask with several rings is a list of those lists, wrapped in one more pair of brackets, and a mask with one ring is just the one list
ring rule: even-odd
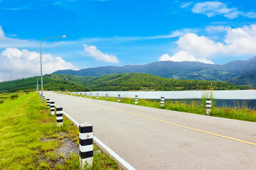
{"label": "strip of tall grass between the road and the lake", "polygon": [[[90,96],[86,96],[86,97],[90,98]],[[96,99],[96,96],[92,96],[92,98]],[[99,97],[99,100],[105,101],[105,97]],[[117,102],[117,98],[113,98],[113,97],[108,97],[107,100]],[[134,104],[134,98],[121,98],[121,103]],[[166,109],[171,111],[181,111],[186,113],[196,113],[200,115],[206,115],[206,98],[203,98],[202,102],[192,101],[191,103],[186,103],[183,101],[167,100],[164,103],[164,107],[160,106],[159,101],[139,99],[139,102],[137,103],[137,105],[147,106],[151,108],[161,108],[161,109]],[[214,107],[214,104],[213,104],[210,112],[210,116],[256,122],[256,111],[250,110],[245,106],[234,107],[234,108],[231,108],[231,107],[218,108],[218,107]]]}

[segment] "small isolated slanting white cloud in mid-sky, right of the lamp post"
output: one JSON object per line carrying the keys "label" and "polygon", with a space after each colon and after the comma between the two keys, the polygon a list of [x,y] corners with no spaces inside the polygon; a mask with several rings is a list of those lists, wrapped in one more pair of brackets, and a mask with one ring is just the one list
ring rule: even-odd
{"label": "small isolated slanting white cloud in mid-sky, right of the lamp post", "polygon": [[107,55],[101,52],[100,50],[97,50],[97,47],[94,45],[86,45],[84,44],[85,52],[87,52],[87,55],[89,57],[93,57],[96,60],[102,60],[104,62],[112,62],[112,63],[118,63],[118,59],[115,55]]}

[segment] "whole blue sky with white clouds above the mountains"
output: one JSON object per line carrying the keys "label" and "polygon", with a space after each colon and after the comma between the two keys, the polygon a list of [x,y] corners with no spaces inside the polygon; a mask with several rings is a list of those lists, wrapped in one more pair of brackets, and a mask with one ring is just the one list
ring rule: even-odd
{"label": "whole blue sky with white clouds above the mountains", "polygon": [[255,1],[0,1],[0,81],[158,61],[225,64],[256,55]]}

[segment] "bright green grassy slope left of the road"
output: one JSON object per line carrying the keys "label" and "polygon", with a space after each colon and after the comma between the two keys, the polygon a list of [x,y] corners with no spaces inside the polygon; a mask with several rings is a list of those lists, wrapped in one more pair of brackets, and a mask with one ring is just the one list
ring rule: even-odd
{"label": "bright green grassy slope left of the road", "polygon": [[[78,154],[60,152],[67,140],[78,144],[78,128],[65,116],[63,127],[57,128],[55,116],[36,93],[11,95],[0,94],[5,99],[0,104],[0,169],[79,169]],[[90,169],[120,168],[100,152]]]}

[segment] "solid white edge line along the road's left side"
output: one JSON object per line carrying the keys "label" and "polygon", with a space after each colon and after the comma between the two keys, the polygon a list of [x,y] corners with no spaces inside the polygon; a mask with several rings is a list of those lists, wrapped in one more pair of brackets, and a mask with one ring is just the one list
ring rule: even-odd
{"label": "solid white edge line along the road's left side", "polygon": [[[56,105],[55,105],[56,106]],[[57,107],[57,106],[56,106]],[[79,127],[79,123],[77,121],[75,121],[73,118],[70,117],[70,115],[68,115],[67,113],[65,113],[65,111],[63,111],[64,115],[67,116],[70,120],[73,121],[73,123],[75,123],[75,125],[77,125]],[[130,165],[128,162],[124,161],[124,159],[122,159],[122,157],[120,157],[118,154],[116,154],[112,149],[110,149],[110,147],[107,147],[107,145],[105,145],[103,142],[101,142],[97,137],[93,136],[93,140],[95,140],[95,142],[97,142],[97,144],[99,144],[102,148],[104,148],[109,154],[112,155],[112,157],[114,157],[114,159],[117,159],[117,161],[122,164],[125,168],[129,169],[129,170],[136,170],[134,169],[134,167],[132,165]]]}

